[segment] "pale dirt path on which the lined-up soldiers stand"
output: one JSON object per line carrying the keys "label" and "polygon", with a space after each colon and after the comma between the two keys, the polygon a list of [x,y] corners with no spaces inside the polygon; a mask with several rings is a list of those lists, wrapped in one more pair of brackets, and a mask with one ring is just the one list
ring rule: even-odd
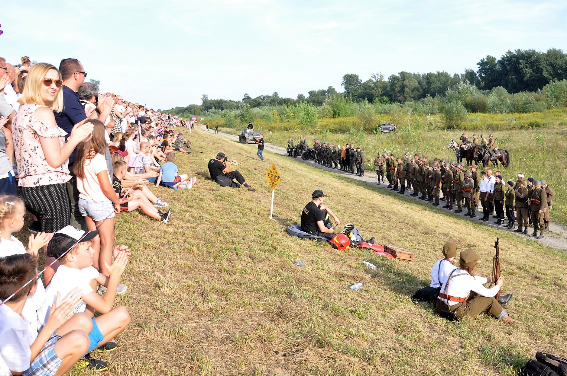
{"label": "pale dirt path on which the lined-up soldiers stand", "polygon": [[[206,131],[205,126],[201,126],[201,129]],[[214,133],[214,129],[210,129],[209,131]],[[235,135],[222,133],[222,132],[219,132],[218,135],[225,136],[226,138],[238,141],[238,136],[235,136]],[[287,156],[287,151],[286,151],[285,147],[266,143],[264,149],[269,150],[269,151],[274,152],[274,153],[278,153],[280,155]],[[327,171],[332,171],[332,172],[335,172],[337,174],[341,174],[343,176],[349,177],[349,178],[354,179],[354,180],[363,181],[363,182],[368,183],[368,184],[370,184],[374,187],[378,186],[379,188],[382,188],[384,190],[387,189],[386,184],[377,185],[376,175],[375,175],[374,171],[369,171],[367,173],[367,176],[359,177],[359,176],[356,176],[354,174],[350,174],[350,173],[347,173],[347,172],[344,172],[344,171],[335,170],[335,169],[331,169],[331,168],[328,168],[328,167],[325,167],[325,166],[321,166],[321,165],[317,164],[314,160],[304,161],[304,160],[301,159],[301,157],[297,157],[297,158],[294,158],[294,159],[297,160],[298,162],[314,166],[315,168],[320,168],[320,169],[324,169],[324,170],[327,170]],[[412,193],[413,193],[413,190],[407,190],[407,191],[405,191],[404,195],[408,198],[416,199],[417,202],[419,202],[423,205],[431,206],[431,203],[424,202],[424,200],[420,200],[417,197],[411,196]],[[435,209],[436,210],[446,210],[446,209],[443,209],[441,206],[439,206]],[[480,212],[482,212],[482,210],[480,210]],[[522,237],[526,241],[530,241],[530,240],[539,241],[539,242],[544,243],[545,245],[556,248],[558,250],[567,250],[567,227],[565,227],[561,224],[555,224],[555,223],[552,222],[551,225],[549,225],[549,231],[545,232],[544,238],[543,239],[536,239],[536,238],[531,237],[531,236],[525,236],[525,235],[514,233],[514,230],[517,227],[515,227],[514,229],[508,229],[508,228],[504,227],[503,225],[497,225],[496,223],[493,222],[493,221],[496,221],[496,219],[493,219],[492,216],[490,216],[490,221],[482,222],[482,221],[479,220],[479,217],[481,217],[482,214],[480,216],[477,216],[477,218],[469,218],[469,217],[464,215],[465,213],[466,213],[466,211],[463,211],[462,213],[459,213],[459,214],[453,213],[453,215],[460,216],[463,219],[466,219],[466,220],[469,220],[469,221],[475,221],[476,223],[484,224],[486,226],[498,228],[501,231],[511,232],[511,233],[513,233],[513,234],[515,234],[519,237]],[[528,229],[528,234],[531,234],[532,232],[533,232],[533,227]]]}

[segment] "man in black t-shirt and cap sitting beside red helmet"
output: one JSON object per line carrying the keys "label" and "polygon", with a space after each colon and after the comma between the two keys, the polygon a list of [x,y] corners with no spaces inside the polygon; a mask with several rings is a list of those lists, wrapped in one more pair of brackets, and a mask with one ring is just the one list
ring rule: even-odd
{"label": "man in black t-shirt and cap sitting beside red helmet", "polygon": [[[301,230],[312,235],[321,236],[331,240],[336,234],[333,228],[328,228],[325,225],[327,215],[333,217],[337,226],[340,226],[341,221],[333,211],[323,206],[323,197],[328,197],[320,189],[315,190],[312,194],[312,201],[308,203],[301,213]],[[329,225],[331,221],[328,221]]]}

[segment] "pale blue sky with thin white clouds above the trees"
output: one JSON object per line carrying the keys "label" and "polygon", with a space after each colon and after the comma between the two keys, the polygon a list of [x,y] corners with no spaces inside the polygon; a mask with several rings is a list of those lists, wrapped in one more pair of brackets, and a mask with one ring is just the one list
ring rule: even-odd
{"label": "pale blue sky with thin white clouds above the trees", "polygon": [[0,56],[75,57],[101,91],[171,108],[203,94],[342,91],[346,73],[460,73],[509,49],[567,51],[566,19],[564,0],[10,1]]}

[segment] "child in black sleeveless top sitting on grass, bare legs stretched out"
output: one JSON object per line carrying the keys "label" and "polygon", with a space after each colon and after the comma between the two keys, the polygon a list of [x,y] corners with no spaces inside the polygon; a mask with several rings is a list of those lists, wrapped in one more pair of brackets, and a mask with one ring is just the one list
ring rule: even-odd
{"label": "child in black sleeveless top sitting on grass, bare legs stretched out", "polygon": [[168,210],[166,213],[160,212],[156,207],[154,207],[150,200],[142,193],[140,190],[127,189],[128,192],[122,196],[122,183],[121,179],[126,175],[126,169],[128,164],[125,161],[116,161],[113,165],[114,174],[112,176],[112,187],[114,191],[121,199],[120,210],[131,212],[140,208],[145,215],[150,216],[154,219],[160,220],[163,223],[167,223],[170,219],[172,210]]}

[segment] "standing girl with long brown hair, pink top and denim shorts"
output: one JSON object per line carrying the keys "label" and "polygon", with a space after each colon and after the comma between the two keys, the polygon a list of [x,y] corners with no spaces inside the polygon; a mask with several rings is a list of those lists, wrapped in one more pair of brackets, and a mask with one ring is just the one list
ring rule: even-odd
{"label": "standing girl with long brown hair, pink top and denim shorts", "polygon": [[99,229],[98,236],[92,240],[95,250],[92,266],[108,275],[114,246],[114,215],[120,212],[120,201],[112,188],[104,158],[107,148],[104,124],[97,119],[88,119],[88,122],[94,126],[92,138],[79,144],[73,171],[77,175],[79,211],[88,228],[98,225]]}

